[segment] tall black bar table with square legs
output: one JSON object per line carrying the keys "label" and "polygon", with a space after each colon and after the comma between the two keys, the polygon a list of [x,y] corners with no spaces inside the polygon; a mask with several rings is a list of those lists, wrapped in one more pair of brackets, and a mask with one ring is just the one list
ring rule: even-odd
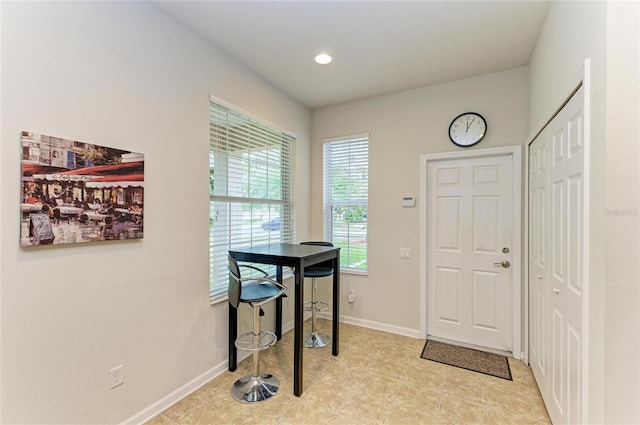
{"label": "tall black bar table with square legs", "polygon": [[[323,261],[333,261],[333,335],[331,354],[339,352],[340,317],[340,248],[317,245],[278,243],[247,248],[234,248],[229,255],[237,261],[277,266],[276,278],[282,282],[282,267],[293,267],[295,276],[293,393],[302,395],[303,383],[303,324],[304,324],[304,268]],[[238,311],[229,305],[229,370],[237,367],[235,340],[238,334]],[[276,335],[282,336],[282,299],[276,300]]]}

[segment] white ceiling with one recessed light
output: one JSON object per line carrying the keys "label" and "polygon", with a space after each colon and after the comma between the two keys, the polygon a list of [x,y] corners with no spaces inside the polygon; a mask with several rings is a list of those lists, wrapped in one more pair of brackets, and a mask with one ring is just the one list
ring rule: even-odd
{"label": "white ceiling with one recessed light", "polygon": [[[526,65],[547,1],[150,1],[311,109]],[[320,51],[333,62],[313,61]]]}

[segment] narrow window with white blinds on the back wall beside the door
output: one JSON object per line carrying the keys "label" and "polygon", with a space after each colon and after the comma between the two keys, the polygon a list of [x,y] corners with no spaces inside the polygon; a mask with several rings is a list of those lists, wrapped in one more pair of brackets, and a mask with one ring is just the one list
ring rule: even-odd
{"label": "narrow window with white blinds on the back wall beside the door", "polygon": [[324,238],[340,247],[343,270],[367,271],[369,135],[325,140]]}

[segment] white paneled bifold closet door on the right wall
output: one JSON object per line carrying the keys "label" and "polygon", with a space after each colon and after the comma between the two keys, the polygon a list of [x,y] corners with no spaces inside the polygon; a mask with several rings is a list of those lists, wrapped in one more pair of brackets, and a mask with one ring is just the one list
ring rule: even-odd
{"label": "white paneled bifold closet door on the right wall", "polygon": [[529,148],[530,360],[554,424],[581,422],[583,105],[581,88]]}

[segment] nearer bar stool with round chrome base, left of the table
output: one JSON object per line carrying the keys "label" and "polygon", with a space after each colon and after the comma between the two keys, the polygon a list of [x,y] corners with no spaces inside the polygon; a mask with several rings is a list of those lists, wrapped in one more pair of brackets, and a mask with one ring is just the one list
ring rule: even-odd
{"label": "nearer bar stool with round chrome base, left of the table", "polygon": [[[287,290],[279,282],[265,277],[240,276],[240,267],[258,270],[257,267],[242,265],[229,256],[229,304],[238,308],[240,303],[246,303],[253,309],[253,330],[238,336],[235,346],[238,350],[253,353],[253,369],[251,374],[238,379],[231,387],[232,397],[242,403],[257,403],[276,394],[280,388],[278,378],[270,373],[260,373],[260,351],[266,350],[278,340],[273,332],[261,330],[260,316],[264,315],[262,306],[275,300]],[[248,282],[243,285],[243,282]]]}

